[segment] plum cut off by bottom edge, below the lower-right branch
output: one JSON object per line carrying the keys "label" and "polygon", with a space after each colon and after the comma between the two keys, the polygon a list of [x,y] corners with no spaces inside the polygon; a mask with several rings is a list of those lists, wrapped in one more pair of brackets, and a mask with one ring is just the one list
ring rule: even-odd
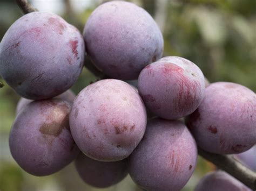
{"label": "plum cut off by bottom edge, below the lower-right branch", "polygon": [[194,191],[250,191],[251,189],[224,171],[207,173],[200,179]]}

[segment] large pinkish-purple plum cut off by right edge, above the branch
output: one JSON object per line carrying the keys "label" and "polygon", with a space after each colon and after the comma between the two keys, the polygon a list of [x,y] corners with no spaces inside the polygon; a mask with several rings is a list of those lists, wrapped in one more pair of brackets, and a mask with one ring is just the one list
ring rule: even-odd
{"label": "large pinkish-purple plum cut off by right edge, above the branch", "polygon": [[217,154],[234,154],[256,143],[256,96],[240,84],[215,82],[203,102],[186,118],[199,147]]}

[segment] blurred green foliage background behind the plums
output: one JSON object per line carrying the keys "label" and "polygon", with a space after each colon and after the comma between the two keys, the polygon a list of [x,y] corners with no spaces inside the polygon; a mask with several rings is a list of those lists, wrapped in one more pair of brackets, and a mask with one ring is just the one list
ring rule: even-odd
{"label": "blurred green foliage background behind the plums", "polygon": [[[31,0],[41,11],[57,13],[83,31],[86,19],[101,0]],[[177,55],[196,63],[210,82],[230,81],[256,91],[256,1],[131,0],[146,9],[164,35],[164,56]],[[0,0],[0,40],[22,11],[15,1]],[[72,87],[77,94],[97,78],[86,68]],[[127,176],[118,185],[96,189],[80,180],[73,164],[45,177],[25,173],[12,159],[8,135],[19,96],[6,84],[0,89],[0,190],[140,190]],[[215,167],[198,157],[195,172],[183,190],[193,190],[201,176]]]}

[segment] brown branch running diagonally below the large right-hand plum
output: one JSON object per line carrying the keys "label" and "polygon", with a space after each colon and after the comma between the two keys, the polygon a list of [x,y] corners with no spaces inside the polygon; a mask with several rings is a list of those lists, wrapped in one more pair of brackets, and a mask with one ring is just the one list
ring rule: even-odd
{"label": "brown branch running diagonally below the large right-hand plum", "polygon": [[211,161],[214,165],[234,176],[240,182],[244,183],[252,190],[256,190],[256,172],[242,165],[238,160],[231,155],[220,155],[208,153],[201,148],[198,148],[198,154],[206,160]]}

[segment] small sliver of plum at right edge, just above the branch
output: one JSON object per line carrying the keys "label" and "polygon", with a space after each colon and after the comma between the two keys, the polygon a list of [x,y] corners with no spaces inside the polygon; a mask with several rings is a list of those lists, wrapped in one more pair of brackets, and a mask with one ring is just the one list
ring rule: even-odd
{"label": "small sliver of plum at right edge, just above the branch", "polygon": [[235,154],[234,157],[256,172],[256,145],[245,152]]}

